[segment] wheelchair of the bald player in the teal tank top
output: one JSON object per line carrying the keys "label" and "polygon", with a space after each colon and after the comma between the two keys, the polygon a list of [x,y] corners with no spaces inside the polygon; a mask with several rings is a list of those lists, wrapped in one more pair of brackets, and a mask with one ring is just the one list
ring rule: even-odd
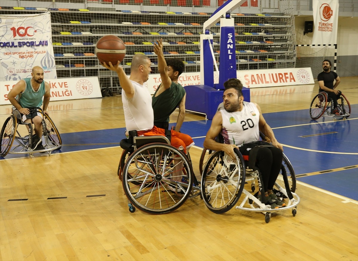
{"label": "wheelchair of the bald player in the teal tank top", "polygon": [[[18,130],[19,125],[28,126],[28,134],[21,136]],[[5,157],[10,154],[29,154],[30,158],[33,157],[33,153],[48,153],[58,150],[62,147],[61,136],[48,114],[43,114],[42,120],[43,137],[45,141],[44,149],[35,150],[32,148],[34,129],[32,123],[25,123],[21,120],[21,115],[18,110],[13,110],[11,114],[3,124],[1,128],[0,144],[1,151],[0,156]],[[17,134],[17,135],[16,135]],[[15,141],[15,142],[14,142]]]}

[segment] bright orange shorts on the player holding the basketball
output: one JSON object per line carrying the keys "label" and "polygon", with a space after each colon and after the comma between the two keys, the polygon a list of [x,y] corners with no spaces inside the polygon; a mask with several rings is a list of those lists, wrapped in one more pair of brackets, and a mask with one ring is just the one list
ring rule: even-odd
{"label": "bright orange shorts on the player holding the basketball", "polygon": [[[176,132],[171,130],[171,146],[178,148],[183,151],[185,154],[187,153],[187,148],[194,145],[194,141],[192,137],[188,134],[184,134],[181,132]],[[165,129],[157,128],[156,126],[149,131],[138,131],[138,136],[165,136]]]}

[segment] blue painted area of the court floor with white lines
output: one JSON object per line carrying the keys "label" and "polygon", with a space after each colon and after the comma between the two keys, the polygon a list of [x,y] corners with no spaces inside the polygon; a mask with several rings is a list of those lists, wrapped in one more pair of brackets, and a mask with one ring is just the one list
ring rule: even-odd
{"label": "blue painted area of the court floor with white lines", "polygon": [[[321,117],[313,121],[308,109],[266,113],[264,117],[274,130],[277,140],[284,145],[284,153],[294,167],[295,174],[308,174],[297,180],[358,200],[357,167],[309,175],[312,172],[358,165],[358,105],[351,105],[351,108],[347,120],[333,121],[332,118]],[[173,124],[169,125],[171,127]],[[210,125],[211,120],[184,122],[182,131],[193,137],[196,146],[203,147]],[[53,153],[116,147],[125,138],[125,128],[63,133],[61,138],[61,150]],[[24,156],[8,154],[6,158]]]}

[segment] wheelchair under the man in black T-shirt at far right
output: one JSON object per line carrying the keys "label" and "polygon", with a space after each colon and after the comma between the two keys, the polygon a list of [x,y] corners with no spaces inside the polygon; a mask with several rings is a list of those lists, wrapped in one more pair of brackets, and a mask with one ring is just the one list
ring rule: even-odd
{"label": "wheelchair under the man in black T-shirt at far right", "polygon": [[341,115],[335,115],[330,113],[332,100],[328,98],[327,92],[321,91],[314,96],[310,106],[310,117],[313,120],[320,117],[333,117],[333,120],[337,120],[337,117],[342,117],[343,120],[347,119],[350,115],[350,104],[343,94],[337,99],[338,111]]}

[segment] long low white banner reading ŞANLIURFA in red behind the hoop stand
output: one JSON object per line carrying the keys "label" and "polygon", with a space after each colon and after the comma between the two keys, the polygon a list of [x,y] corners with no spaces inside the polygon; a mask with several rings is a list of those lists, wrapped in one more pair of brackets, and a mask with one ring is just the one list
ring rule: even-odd
{"label": "long low white banner reading \u015eANLIURFA in red behind the hoop stand", "polygon": [[[307,68],[287,68],[287,69],[265,69],[265,70],[248,70],[236,71],[237,79],[242,82],[245,87],[272,87],[285,85],[301,85],[314,84],[312,71],[310,67]],[[178,82],[183,85],[199,85],[200,72],[182,73],[179,76]],[[214,72],[214,83],[218,83],[219,79]],[[161,83],[160,74],[150,74],[149,80],[145,86],[149,89],[151,94]]]}

